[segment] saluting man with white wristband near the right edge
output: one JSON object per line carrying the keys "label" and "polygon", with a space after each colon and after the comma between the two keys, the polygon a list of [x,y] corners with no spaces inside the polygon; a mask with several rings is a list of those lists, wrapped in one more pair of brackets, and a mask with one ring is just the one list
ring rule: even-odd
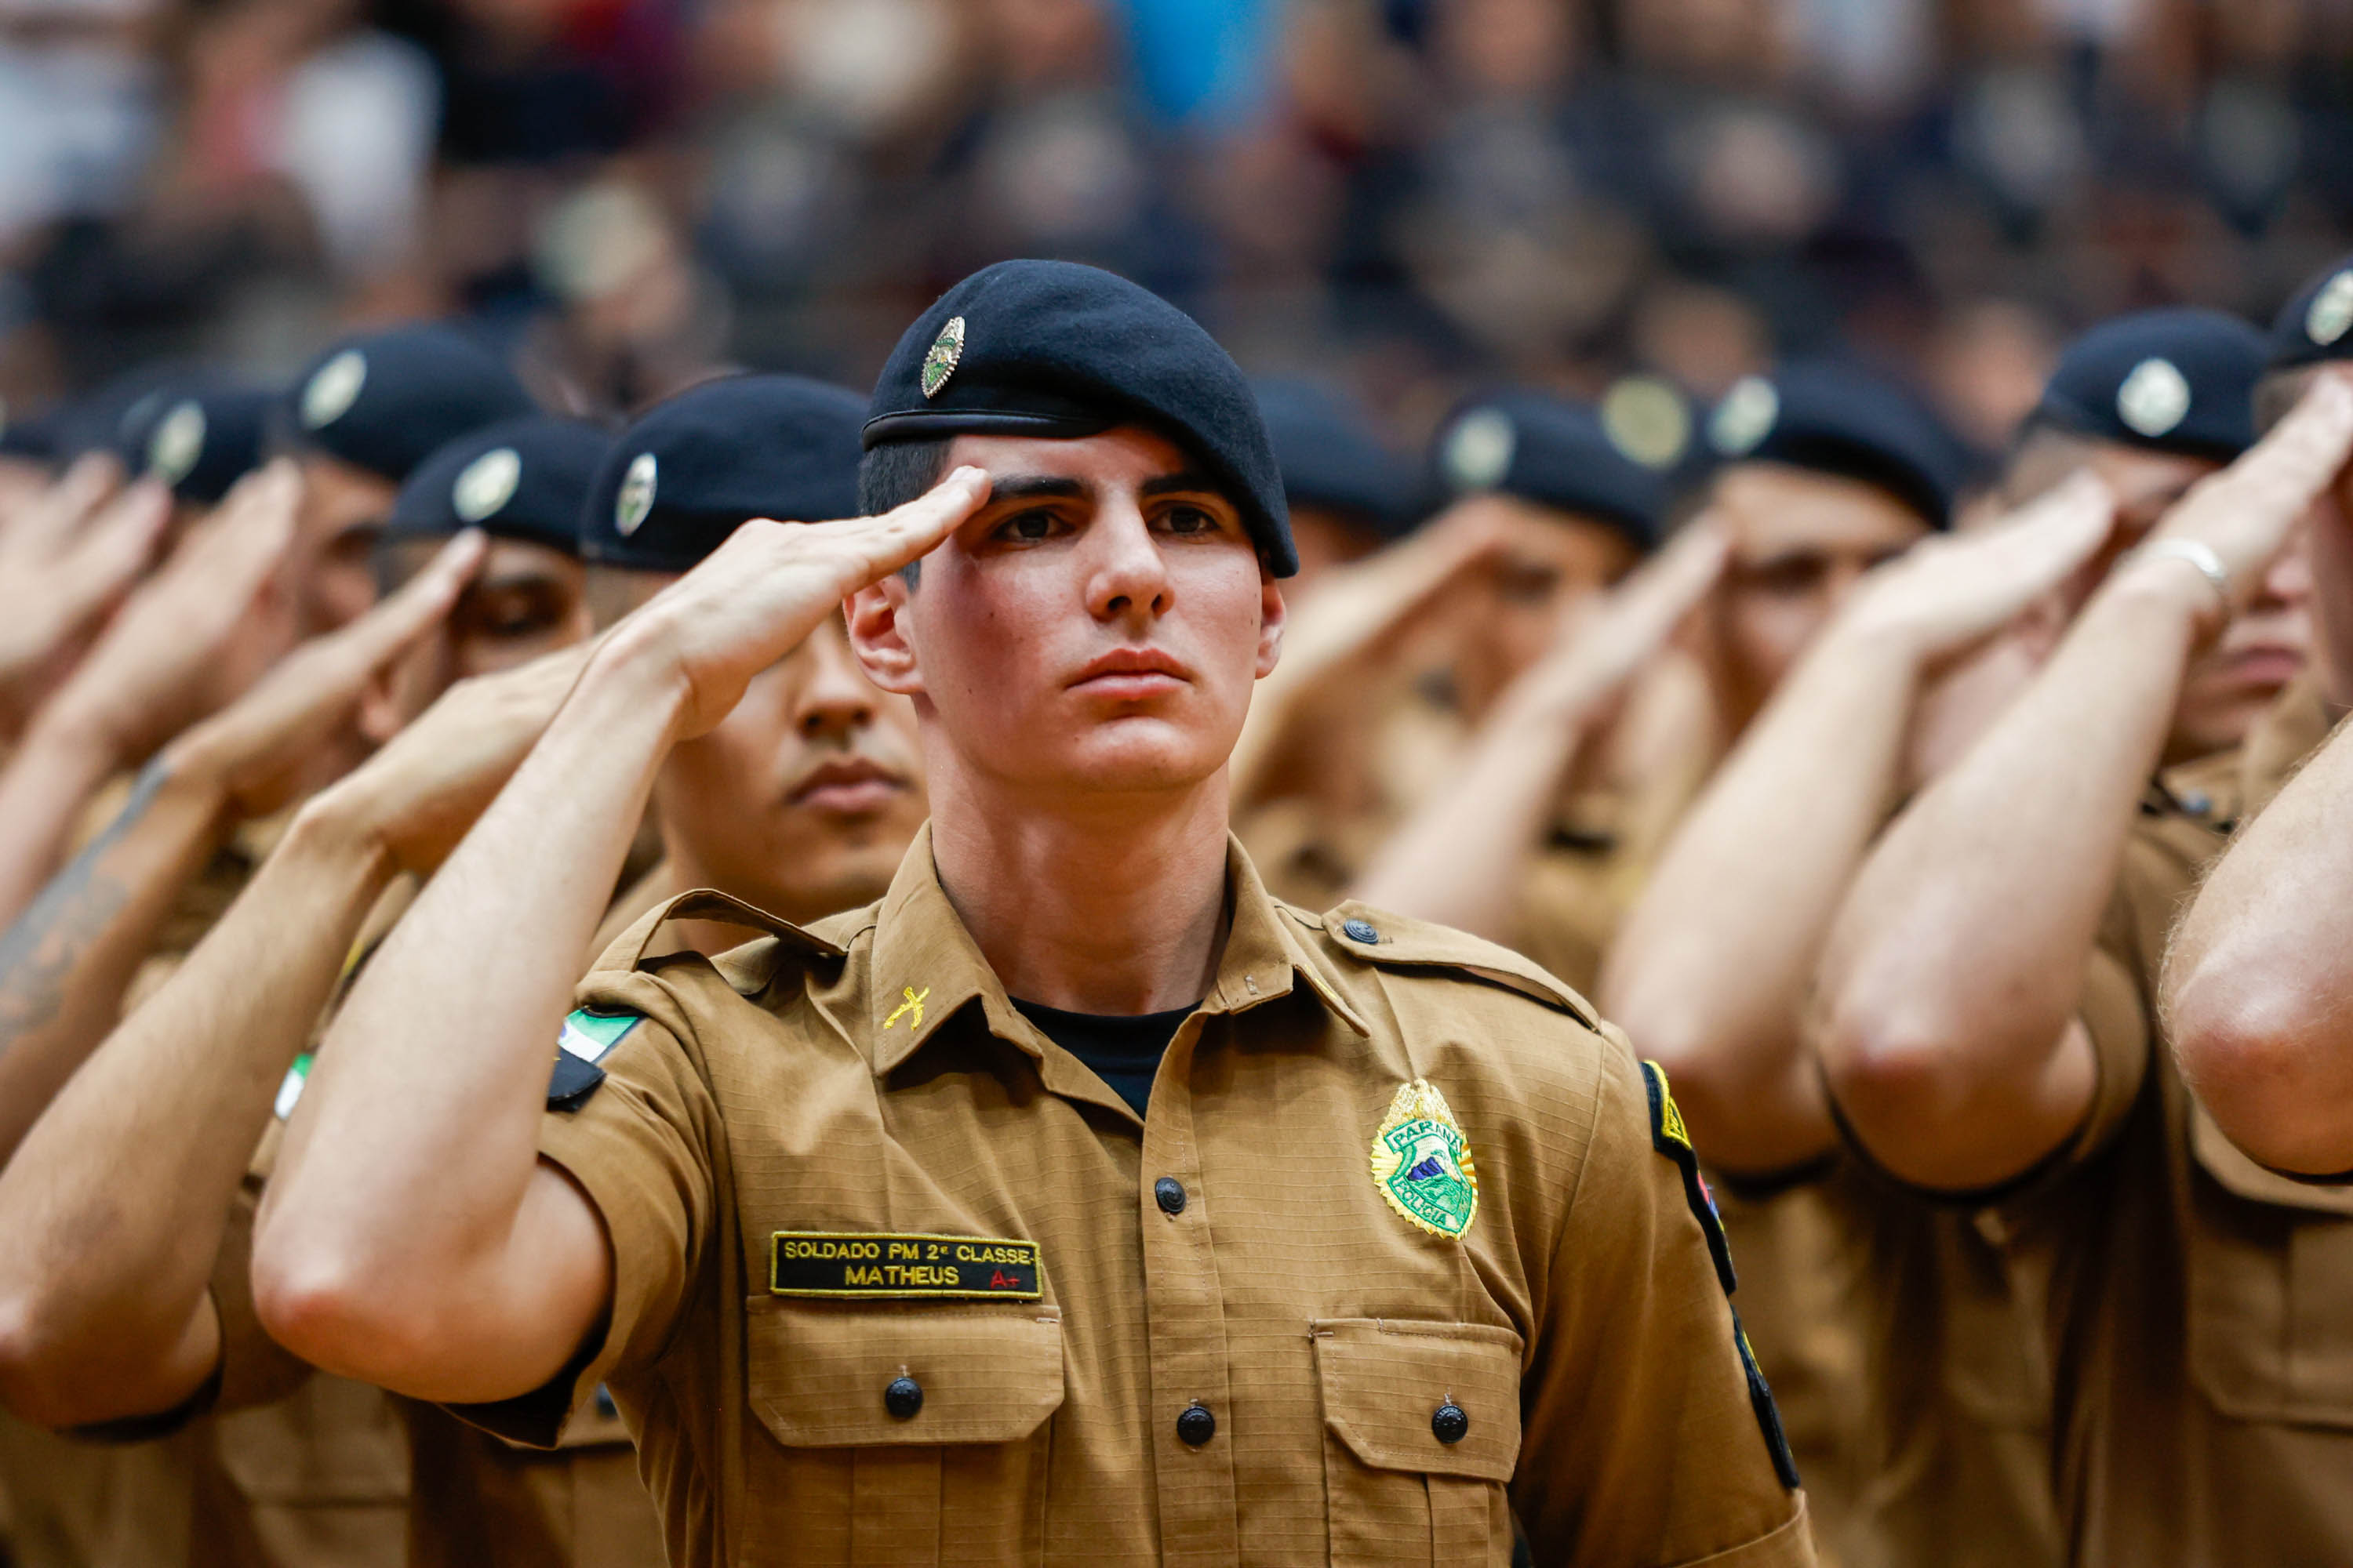
{"label": "saluting man with white wristband near the right edge", "polygon": [[2301,402],[2165,515],[1897,816],[1821,969],[1852,1145],[1991,1246],[2078,1563],[2353,1552],[2353,1222],[2231,1147],[2155,1009],[2167,929],[2224,839],[2151,778],[2195,658],[2261,592],[2294,595],[2297,524],[2353,449],[2353,390],[2306,369],[2353,315],[2318,292],[2278,360]]}

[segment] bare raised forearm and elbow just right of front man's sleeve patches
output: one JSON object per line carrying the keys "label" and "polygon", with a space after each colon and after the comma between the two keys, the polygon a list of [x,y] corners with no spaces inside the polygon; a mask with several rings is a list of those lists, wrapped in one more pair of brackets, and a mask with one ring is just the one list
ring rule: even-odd
{"label": "bare raised forearm and elbow just right of front man's sleeve patches", "polygon": [[1894,797],[1915,689],[1899,639],[1833,628],[1675,832],[1602,969],[1602,1011],[1729,1171],[1835,1143],[1805,997]]}

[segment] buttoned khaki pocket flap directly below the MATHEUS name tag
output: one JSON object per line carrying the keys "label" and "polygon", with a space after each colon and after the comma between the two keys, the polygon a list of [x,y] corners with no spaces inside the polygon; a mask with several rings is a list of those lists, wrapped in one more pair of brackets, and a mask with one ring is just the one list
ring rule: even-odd
{"label": "buttoned khaki pocket flap directly below the MATHEUS name tag", "polygon": [[[788,1448],[1012,1443],[1061,1408],[1061,1307],[746,1300],[751,1406]],[[922,1406],[892,1415],[913,1378]]]}

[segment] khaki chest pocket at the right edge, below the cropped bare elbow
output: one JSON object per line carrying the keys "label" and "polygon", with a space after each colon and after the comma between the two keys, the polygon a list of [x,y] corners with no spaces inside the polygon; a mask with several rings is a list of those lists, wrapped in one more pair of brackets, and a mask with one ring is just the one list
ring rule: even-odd
{"label": "khaki chest pocket at the right edge, below the cropped bare elbow", "polygon": [[[2247,1159],[2191,1105],[2191,1371],[2224,1415],[2353,1429],[2353,1187]],[[2217,1190],[2219,1187],[2219,1190]]]}

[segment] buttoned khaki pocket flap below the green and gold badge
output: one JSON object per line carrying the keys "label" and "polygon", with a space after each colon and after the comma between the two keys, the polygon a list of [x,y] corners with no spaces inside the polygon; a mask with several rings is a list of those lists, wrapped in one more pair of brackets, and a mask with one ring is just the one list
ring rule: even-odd
{"label": "buttoned khaki pocket flap below the green and gold badge", "polygon": [[[1520,1462],[1520,1335],[1487,1324],[1318,1319],[1325,1422],[1374,1469],[1511,1481]],[[1438,1410],[1466,1418],[1438,1436]]]}

